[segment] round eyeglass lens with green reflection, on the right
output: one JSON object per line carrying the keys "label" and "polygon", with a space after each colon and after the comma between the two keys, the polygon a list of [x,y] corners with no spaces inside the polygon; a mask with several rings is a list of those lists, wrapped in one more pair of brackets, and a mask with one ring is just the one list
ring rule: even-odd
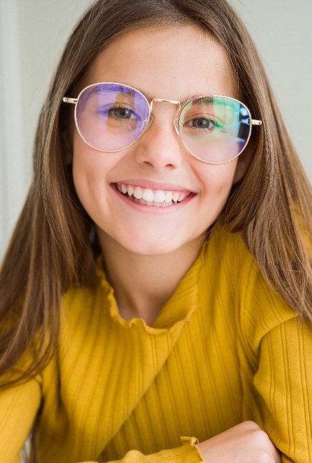
{"label": "round eyeglass lens with green reflection, on the right", "polygon": [[251,134],[251,114],[241,102],[215,95],[186,103],[179,116],[184,145],[200,160],[228,162],[239,155]]}

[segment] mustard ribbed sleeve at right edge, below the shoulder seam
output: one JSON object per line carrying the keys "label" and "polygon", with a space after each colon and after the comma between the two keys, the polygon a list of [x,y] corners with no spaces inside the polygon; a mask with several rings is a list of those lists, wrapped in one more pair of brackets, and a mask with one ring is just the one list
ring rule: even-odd
{"label": "mustard ribbed sleeve at right edge, below the shoulder seam", "polygon": [[291,319],[262,339],[254,379],[264,426],[282,462],[309,463],[312,455],[312,328]]}

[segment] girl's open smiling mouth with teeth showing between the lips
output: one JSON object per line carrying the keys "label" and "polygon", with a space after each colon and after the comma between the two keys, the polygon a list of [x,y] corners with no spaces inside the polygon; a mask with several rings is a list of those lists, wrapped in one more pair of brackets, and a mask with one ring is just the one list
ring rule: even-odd
{"label": "girl's open smiling mouth with teeth showing between the lips", "polygon": [[126,196],[129,200],[144,206],[173,206],[193,195],[191,191],[153,190],[150,188],[126,185],[124,183],[116,183],[115,185],[119,193]]}

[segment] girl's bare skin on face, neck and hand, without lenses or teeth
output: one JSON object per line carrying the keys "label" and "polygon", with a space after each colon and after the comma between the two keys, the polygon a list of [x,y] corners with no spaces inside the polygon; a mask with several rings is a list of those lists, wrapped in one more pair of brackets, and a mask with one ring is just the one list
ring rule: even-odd
{"label": "girl's bare skin on face, neck and hand, without lenses or teeth", "polygon": [[[226,53],[195,26],[147,28],[115,39],[92,62],[79,90],[95,82],[128,84],[148,99],[185,101],[207,93],[241,97]],[[77,194],[96,224],[119,312],[150,325],[191,267],[252,155],[248,147],[226,164],[205,164],[186,151],[173,126],[175,117],[177,106],[156,103],[148,131],[117,153],[92,149],[76,130],[68,146]],[[125,198],[117,183],[191,194],[180,205],[148,207]],[[252,422],[199,448],[207,462],[280,462],[269,437]]]}

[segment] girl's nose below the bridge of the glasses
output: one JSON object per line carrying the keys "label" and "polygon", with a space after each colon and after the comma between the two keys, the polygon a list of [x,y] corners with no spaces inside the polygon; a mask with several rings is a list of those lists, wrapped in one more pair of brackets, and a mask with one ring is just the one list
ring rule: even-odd
{"label": "girl's nose below the bridge of the glasses", "polygon": [[183,146],[175,130],[173,117],[159,111],[147,131],[133,145],[137,162],[156,171],[177,169],[182,164]]}

